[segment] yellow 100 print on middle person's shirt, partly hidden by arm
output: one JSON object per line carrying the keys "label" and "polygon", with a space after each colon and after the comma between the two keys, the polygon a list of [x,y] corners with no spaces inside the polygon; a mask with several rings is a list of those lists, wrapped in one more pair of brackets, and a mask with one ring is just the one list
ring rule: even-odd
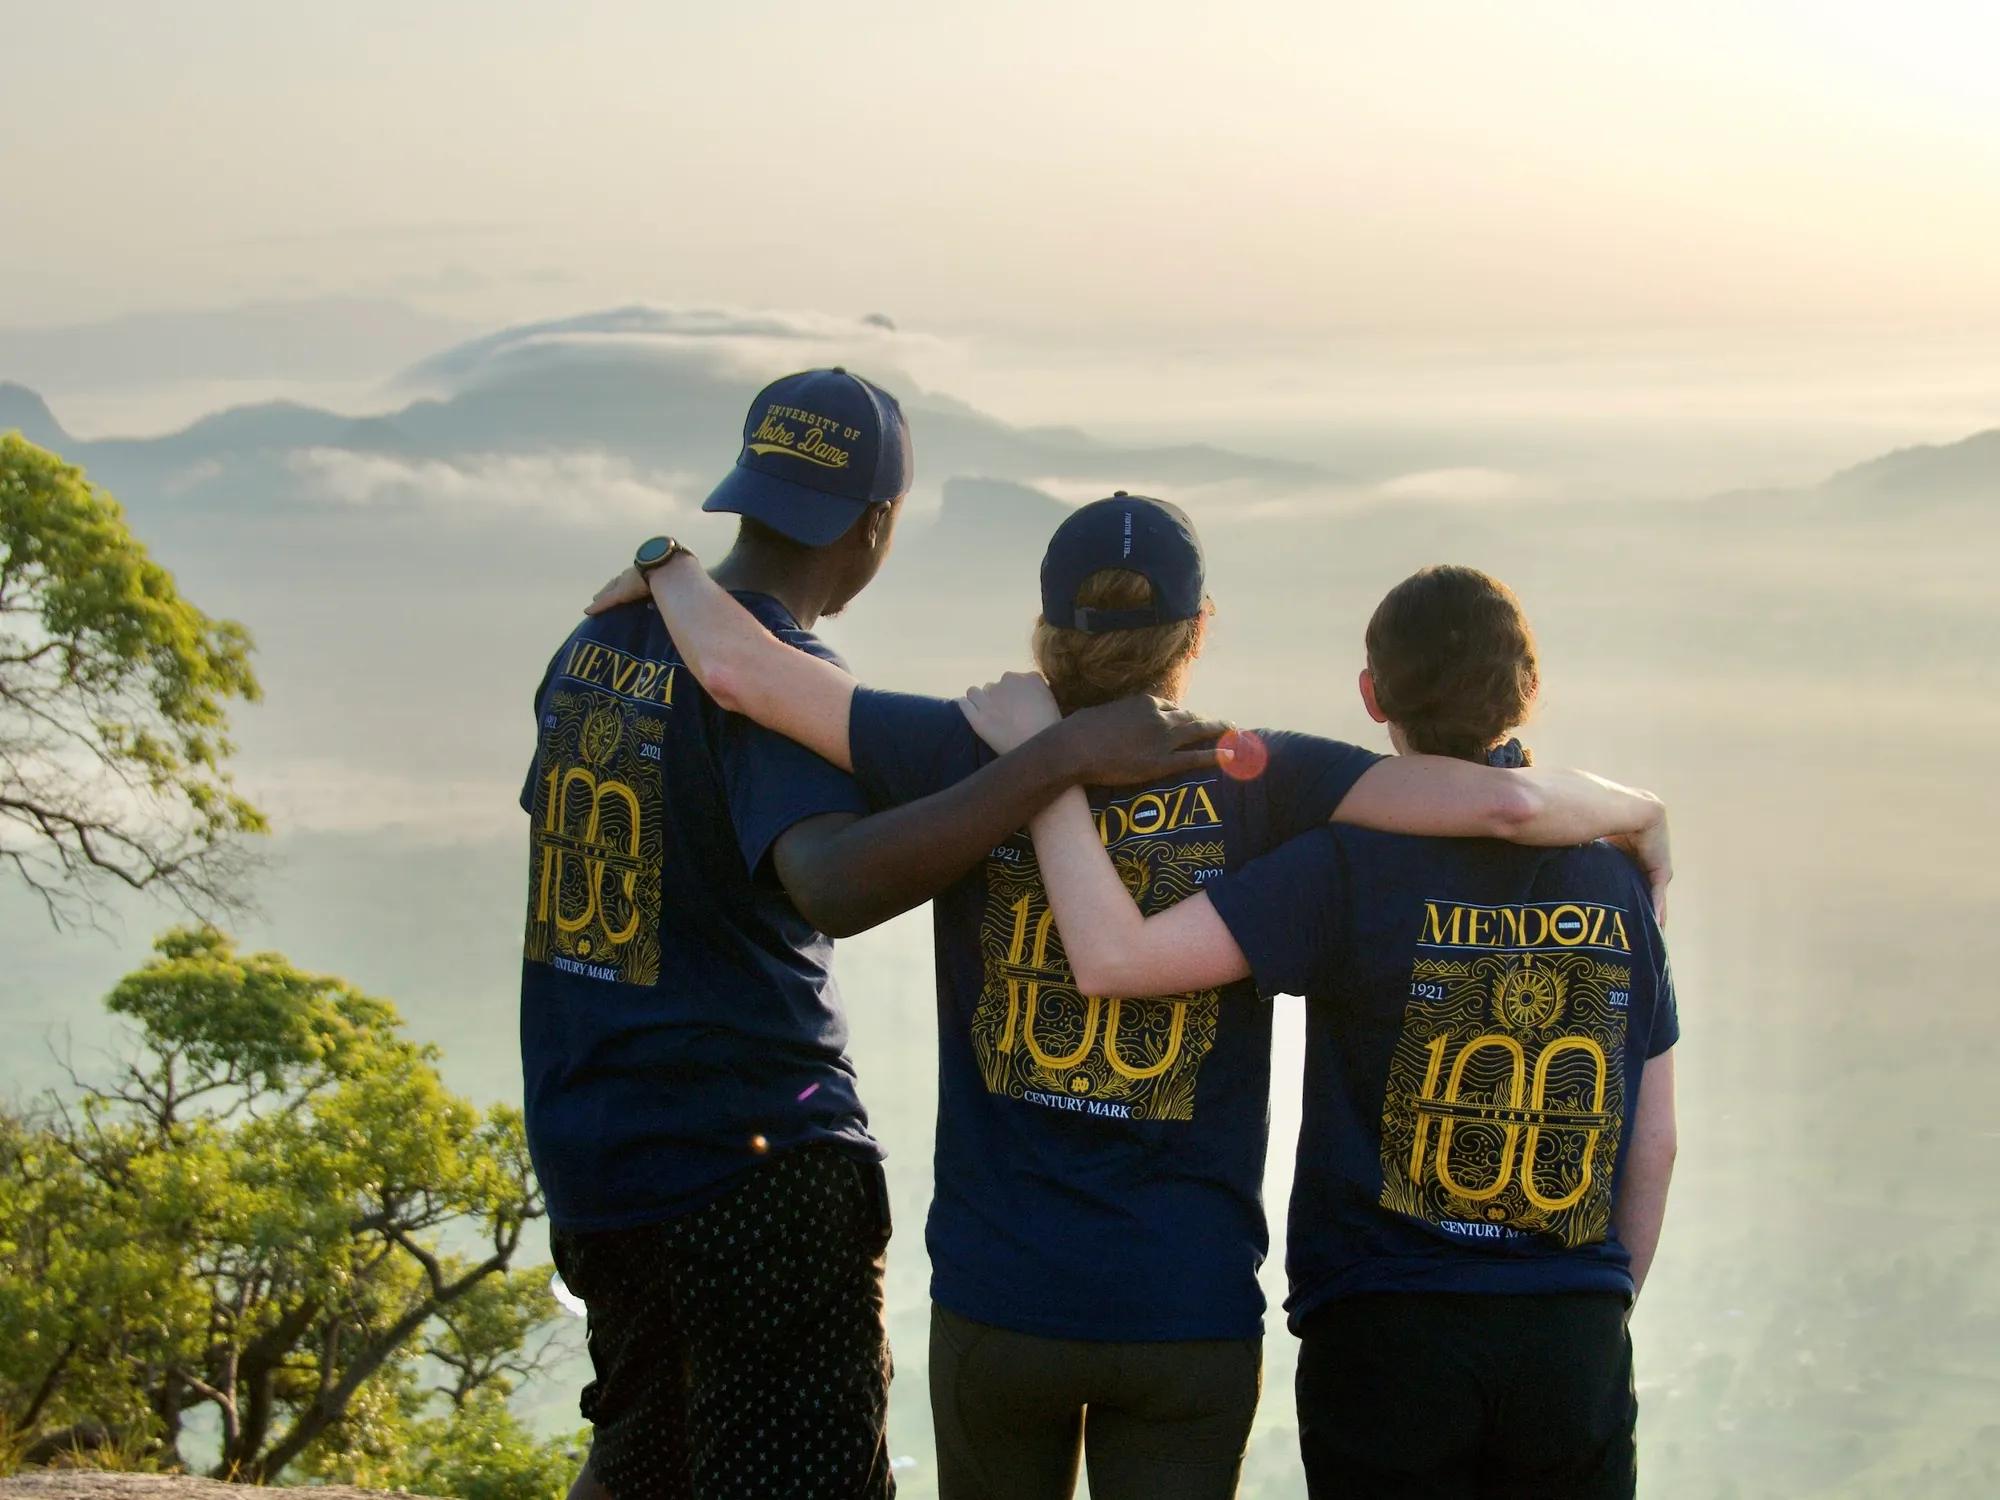
{"label": "yellow 100 print on middle person's shirt, partly hidden by arm", "polygon": [[[1096,820],[1148,916],[1224,868],[1222,818],[1206,782],[1122,798]],[[1040,868],[1022,846],[986,862],[980,950],[972,1050],[988,1092],[1110,1120],[1194,1118],[1220,990],[1156,1000],[1078,992]]]}

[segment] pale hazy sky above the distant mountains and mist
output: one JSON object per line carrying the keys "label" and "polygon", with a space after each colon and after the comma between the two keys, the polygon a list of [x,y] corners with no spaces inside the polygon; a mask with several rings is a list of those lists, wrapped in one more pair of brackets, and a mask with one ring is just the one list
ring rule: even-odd
{"label": "pale hazy sky above the distant mountains and mist", "polygon": [[0,0],[0,322],[2000,324],[1986,0]]}

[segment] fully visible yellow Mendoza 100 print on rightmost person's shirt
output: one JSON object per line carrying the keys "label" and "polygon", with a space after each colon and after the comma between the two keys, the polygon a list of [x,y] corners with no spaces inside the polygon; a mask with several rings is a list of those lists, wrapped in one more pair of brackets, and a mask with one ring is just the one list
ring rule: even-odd
{"label": "fully visible yellow Mendoza 100 print on rightmost person's shirt", "polygon": [[1426,902],[1382,1100],[1382,1206],[1472,1238],[1610,1232],[1632,942],[1592,902]]}

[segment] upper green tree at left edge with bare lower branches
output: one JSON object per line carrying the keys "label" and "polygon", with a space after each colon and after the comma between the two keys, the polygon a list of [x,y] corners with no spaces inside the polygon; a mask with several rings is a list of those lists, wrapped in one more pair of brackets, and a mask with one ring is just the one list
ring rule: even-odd
{"label": "upper green tree at left edge with bare lower branches", "polygon": [[56,922],[106,888],[240,904],[264,830],[226,768],[250,636],[210,620],[82,470],[0,434],[0,864]]}

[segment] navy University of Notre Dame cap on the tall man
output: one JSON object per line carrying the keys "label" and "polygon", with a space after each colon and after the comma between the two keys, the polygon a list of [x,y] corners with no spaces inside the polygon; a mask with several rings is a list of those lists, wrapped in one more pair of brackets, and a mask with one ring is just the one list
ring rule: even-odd
{"label": "navy University of Notre Dame cap on the tall man", "polygon": [[836,542],[868,506],[910,488],[896,398],[846,370],[772,380],[750,402],[736,468],[702,510],[750,516],[806,546]]}

